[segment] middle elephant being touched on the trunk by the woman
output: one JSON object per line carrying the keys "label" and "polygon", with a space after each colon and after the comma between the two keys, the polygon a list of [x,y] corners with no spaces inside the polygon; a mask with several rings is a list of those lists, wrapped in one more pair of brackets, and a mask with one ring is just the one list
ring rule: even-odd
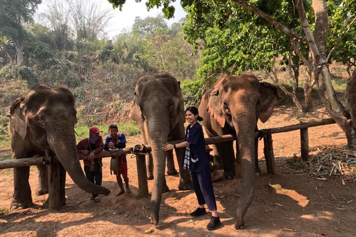
{"label": "middle elephant being touched on the trunk by the woman", "polygon": [[[162,145],[168,138],[184,139],[185,113],[180,82],[168,72],[141,77],[136,84],[130,118],[140,126],[145,143],[151,145],[155,174],[151,223],[157,225],[162,193],[168,190],[164,177],[167,152],[162,150]],[[183,149],[175,149],[175,152],[179,165],[178,188],[193,189],[189,171],[183,169]]]}

